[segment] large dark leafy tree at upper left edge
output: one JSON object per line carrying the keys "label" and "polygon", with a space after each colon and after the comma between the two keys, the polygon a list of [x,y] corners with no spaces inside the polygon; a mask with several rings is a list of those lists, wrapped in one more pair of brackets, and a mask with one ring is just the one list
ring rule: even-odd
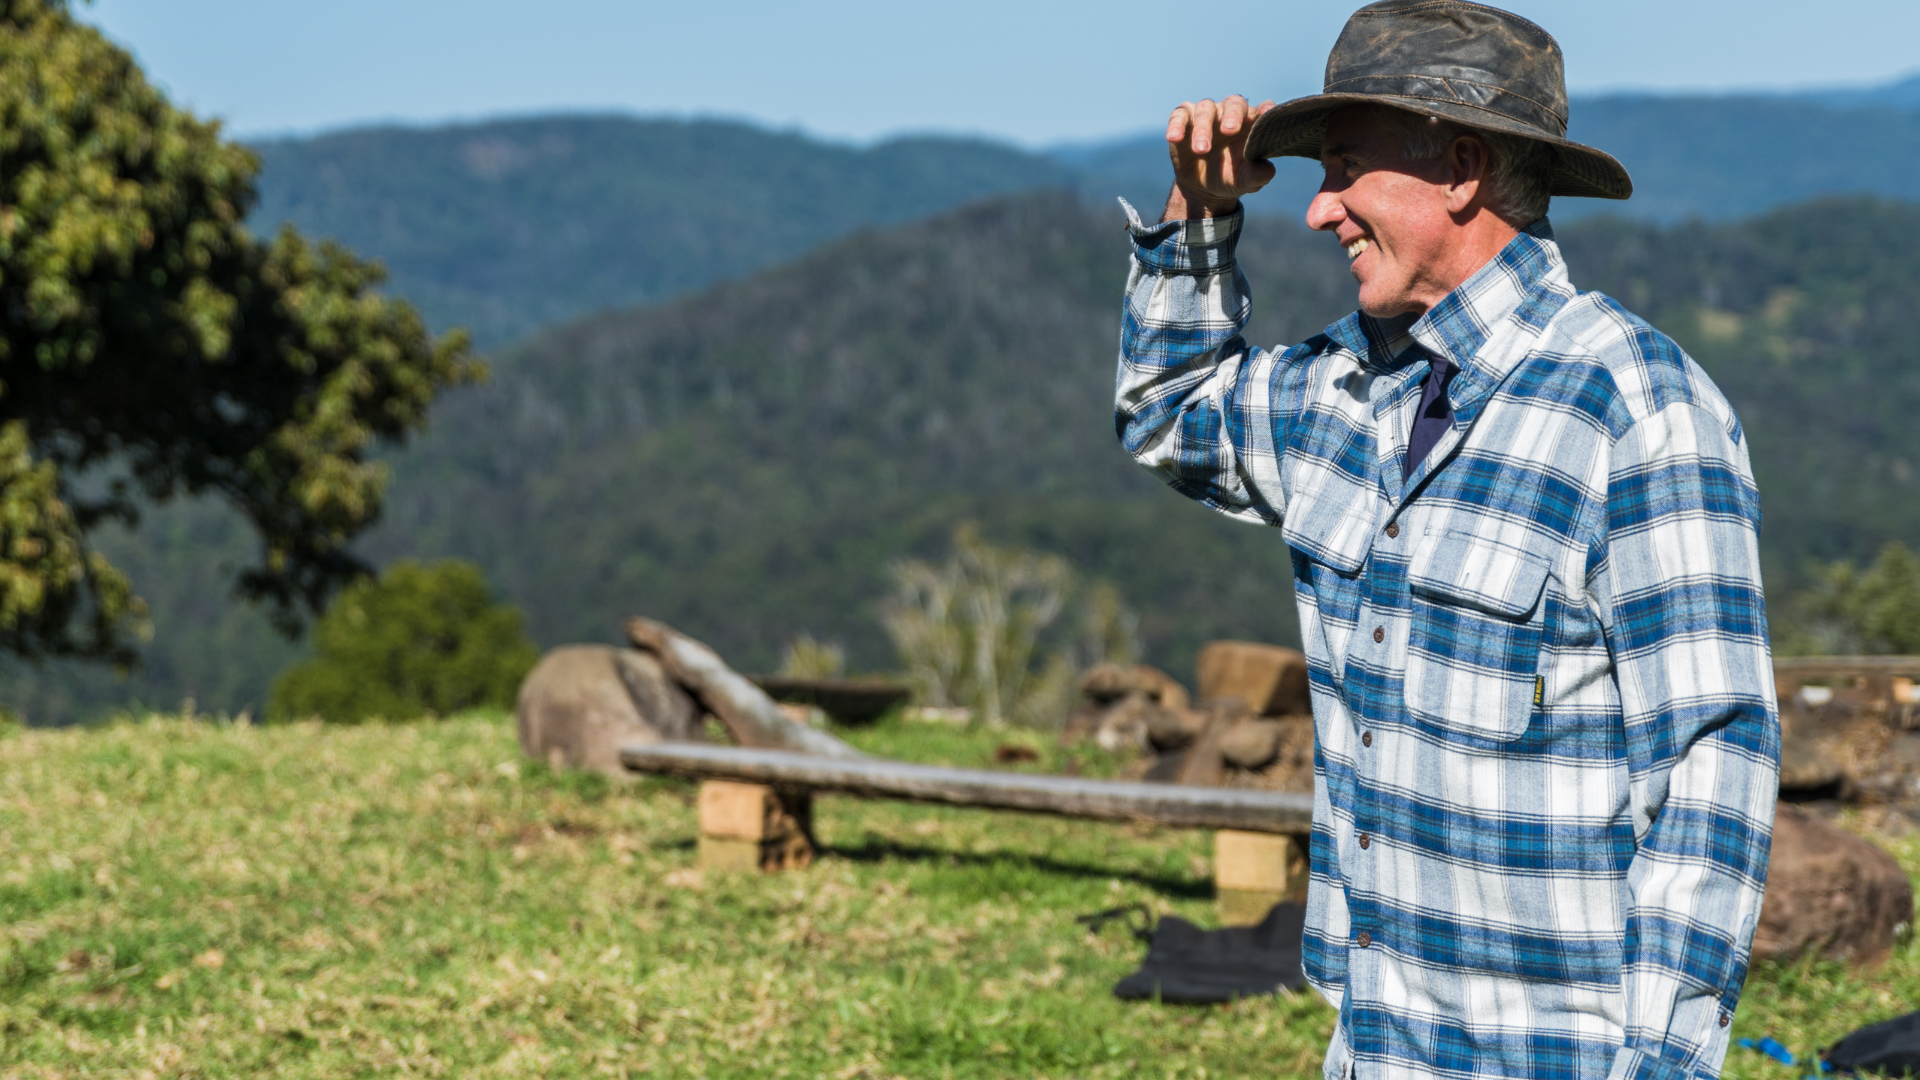
{"label": "large dark leafy tree at upper left edge", "polygon": [[131,659],[142,605],[86,534],[182,494],[248,519],[236,588],[298,630],[365,571],[374,440],[480,375],[376,265],[253,238],[255,169],[65,0],[0,0],[0,650]]}

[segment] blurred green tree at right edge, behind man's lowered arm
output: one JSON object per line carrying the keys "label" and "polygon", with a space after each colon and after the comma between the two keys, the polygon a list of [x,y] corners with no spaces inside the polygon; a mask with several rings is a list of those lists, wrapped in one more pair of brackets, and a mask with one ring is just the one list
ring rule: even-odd
{"label": "blurred green tree at right edge, behind man's lowered arm", "polygon": [[1793,607],[1782,651],[1920,653],[1920,555],[1893,542],[1866,569],[1830,563]]}

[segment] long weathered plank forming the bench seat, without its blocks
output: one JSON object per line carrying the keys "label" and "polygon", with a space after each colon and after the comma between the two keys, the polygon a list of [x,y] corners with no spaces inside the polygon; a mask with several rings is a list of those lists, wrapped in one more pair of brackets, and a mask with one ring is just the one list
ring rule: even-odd
{"label": "long weathered plank forming the bench seat, without its blocks", "polygon": [[1238,828],[1290,836],[1304,836],[1313,824],[1313,796],[1296,792],[1035,776],[691,744],[628,746],[620,751],[620,761],[636,773],[662,773],[695,780],[743,780],[797,792],[1018,809],[1096,821]]}

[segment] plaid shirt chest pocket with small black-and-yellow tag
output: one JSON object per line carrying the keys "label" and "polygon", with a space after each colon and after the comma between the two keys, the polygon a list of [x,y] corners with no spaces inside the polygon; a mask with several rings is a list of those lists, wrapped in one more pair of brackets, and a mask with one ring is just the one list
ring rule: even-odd
{"label": "plaid shirt chest pocket with small black-and-yellow tag", "polygon": [[1421,538],[1407,565],[1407,711],[1419,723],[1505,742],[1534,715],[1546,559],[1467,532]]}

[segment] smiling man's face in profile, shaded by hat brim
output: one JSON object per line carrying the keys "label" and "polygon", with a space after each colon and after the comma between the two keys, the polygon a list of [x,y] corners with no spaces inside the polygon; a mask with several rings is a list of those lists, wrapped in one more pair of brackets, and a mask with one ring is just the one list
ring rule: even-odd
{"label": "smiling man's face in profile, shaded by hat brim", "polygon": [[1359,309],[1390,319],[1440,302],[1459,281],[1450,246],[1459,221],[1448,213],[1448,156],[1407,161],[1400,135],[1379,110],[1327,117],[1327,179],[1308,206],[1308,227],[1332,233],[1352,259]]}

